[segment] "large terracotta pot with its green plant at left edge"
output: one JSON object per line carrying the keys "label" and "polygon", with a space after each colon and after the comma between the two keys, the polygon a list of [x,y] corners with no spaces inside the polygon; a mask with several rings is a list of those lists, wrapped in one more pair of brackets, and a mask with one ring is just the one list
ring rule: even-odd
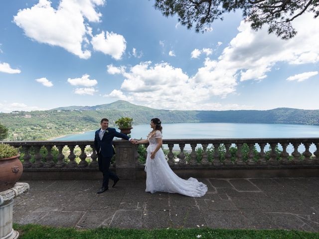
{"label": "large terracotta pot with its green plant at left edge", "polygon": [[17,148],[0,143],[0,192],[12,188],[22,175],[23,166]]}

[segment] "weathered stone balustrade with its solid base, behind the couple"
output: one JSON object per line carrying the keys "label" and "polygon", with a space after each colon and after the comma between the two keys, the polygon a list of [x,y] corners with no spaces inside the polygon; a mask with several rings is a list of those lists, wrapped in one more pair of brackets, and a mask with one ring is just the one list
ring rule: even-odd
{"label": "weathered stone balustrade with its solid base, behind the couple", "polygon": [[[41,178],[39,172],[52,179],[100,177],[92,140],[5,143],[21,147],[23,176],[26,175],[23,180]],[[299,149],[301,145],[304,150]],[[111,168],[122,178],[145,177],[146,155],[138,153],[138,145],[114,140],[114,146],[116,157]],[[163,146],[167,148],[164,151],[170,167],[183,177],[319,175],[319,138],[163,139]],[[45,157],[40,151],[43,147],[47,151]],[[78,155],[74,152],[76,147],[80,149]],[[290,153],[288,147],[292,148]]]}

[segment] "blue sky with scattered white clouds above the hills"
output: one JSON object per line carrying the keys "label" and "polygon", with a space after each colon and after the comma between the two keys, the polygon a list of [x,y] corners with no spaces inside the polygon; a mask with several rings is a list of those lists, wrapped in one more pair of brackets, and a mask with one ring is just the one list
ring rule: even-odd
{"label": "blue sky with scattered white clouds above the hills", "polygon": [[0,1],[0,112],[116,100],[166,110],[319,109],[319,19],[295,38],[241,12],[205,33],[153,0]]}

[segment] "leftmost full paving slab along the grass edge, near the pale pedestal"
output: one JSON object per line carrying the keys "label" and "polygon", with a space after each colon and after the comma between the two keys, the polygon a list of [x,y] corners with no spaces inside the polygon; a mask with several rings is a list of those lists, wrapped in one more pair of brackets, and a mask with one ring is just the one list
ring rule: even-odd
{"label": "leftmost full paving slab along the grass edge, near the pale pedestal", "polygon": [[75,227],[83,215],[83,212],[49,212],[37,223],[51,227]]}

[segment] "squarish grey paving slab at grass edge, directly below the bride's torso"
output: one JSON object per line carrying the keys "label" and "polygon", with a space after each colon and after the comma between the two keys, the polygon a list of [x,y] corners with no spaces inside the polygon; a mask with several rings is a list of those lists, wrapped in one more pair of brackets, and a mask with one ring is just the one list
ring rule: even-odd
{"label": "squarish grey paving slab at grass edge, directly below the bride's torso", "polygon": [[169,219],[168,211],[144,211],[143,212],[143,228],[155,229],[155,228],[170,228],[172,223]]}

